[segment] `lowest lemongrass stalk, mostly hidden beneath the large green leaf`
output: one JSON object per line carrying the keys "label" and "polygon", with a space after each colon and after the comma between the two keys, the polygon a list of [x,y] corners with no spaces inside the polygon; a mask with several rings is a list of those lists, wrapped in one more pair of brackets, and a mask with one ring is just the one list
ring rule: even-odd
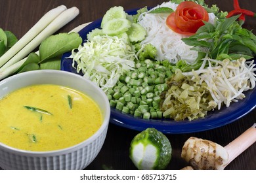
{"label": "lowest lemongrass stalk, mostly hidden beneath the large green leaf", "polygon": [[[72,32],[77,33],[77,32],[81,31],[81,29],[83,29],[84,27],[86,27],[89,24],[91,24],[91,22],[78,25],[77,27],[72,29],[69,33],[72,33]],[[35,52],[35,54],[37,54],[39,56],[39,51]],[[26,59],[28,59],[28,57],[26,57],[26,58],[24,58],[24,59],[22,59],[22,60],[20,60],[20,61],[18,61],[16,63],[14,63],[13,65],[8,67],[4,71],[1,71],[0,72],[0,80],[2,80],[3,78],[6,78],[7,76],[13,75],[20,67],[22,67],[22,65],[24,64]]]}

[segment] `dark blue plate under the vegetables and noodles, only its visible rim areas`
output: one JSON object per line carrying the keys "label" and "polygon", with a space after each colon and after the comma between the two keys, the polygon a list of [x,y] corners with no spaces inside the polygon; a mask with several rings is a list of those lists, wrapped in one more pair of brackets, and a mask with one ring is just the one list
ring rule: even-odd
{"label": "dark blue plate under the vegetables and noodles, only its visible rim areas", "polygon": [[[128,14],[136,14],[136,12],[137,10],[127,11]],[[89,33],[89,31],[100,27],[101,20],[102,19],[96,20],[79,31],[79,35],[83,40],[87,38],[87,33]],[[72,59],[68,59],[70,54],[70,52],[63,54],[61,69],[63,71],[77,73],[76,69],[72,67]],[[81,75],[81,73],[79,74]],[[137,131],[142,131],[148,127],[154,127],[163,133],[173,134],[205,131],[230,124],[253,110],[256,106],[256,90],[245,92],[245,96],[245,99],[240,100],[238,103],[231,103],[228,108],[222,107],[221,110],[209,112],[205,118],[193,120],[192,122],[189,122],[188,120],[175,122],[174,120],[168,119],[143,120],[142,118],[135,118],[130,114],[123,114],[121,111],[116,110],[116,108],[111,109],[110,122]]]}

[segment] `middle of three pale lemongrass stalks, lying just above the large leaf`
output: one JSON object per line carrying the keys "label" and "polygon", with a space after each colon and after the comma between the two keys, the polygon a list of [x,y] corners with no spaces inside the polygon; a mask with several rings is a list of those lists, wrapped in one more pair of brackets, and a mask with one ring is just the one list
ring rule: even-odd
{"label": "middle of three pale lemongrass stalks, lying just above the large leaf", "polygon": [[68,24],[71,20],[73,20],[79,14],[79,10],[76,7],[68,8],[64,10],[64,12],[60,13],[54,20],[51,22],[41,33],[39,33],[31,42],[26,44],[20,52],[18,52],[14,57],[12,57],[5,65],[3,65],[0,71],[4,71],[7,67],[10,67],[12,64],[20,61],[25,58],[30,52],[32,52],[41,42],[53,35],[58,29]]}

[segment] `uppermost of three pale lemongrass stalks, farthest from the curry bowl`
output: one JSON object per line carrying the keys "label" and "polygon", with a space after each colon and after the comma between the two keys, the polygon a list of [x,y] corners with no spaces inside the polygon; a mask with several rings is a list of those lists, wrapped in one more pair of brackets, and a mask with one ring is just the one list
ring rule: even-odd
{"label": "uppermost of three pale lemongrass stalks, farthest from the curry bowl", "polygon": [[0,67],[3,66],[9,59],[11,59],[16,53],[18,53],[28,42],[32,41],[47,25],[49,25],[54,18],[56,18],[61,12],[67,8],[64,5],[49,10],[33,27],[14,44],[3,56],[0,58]]}

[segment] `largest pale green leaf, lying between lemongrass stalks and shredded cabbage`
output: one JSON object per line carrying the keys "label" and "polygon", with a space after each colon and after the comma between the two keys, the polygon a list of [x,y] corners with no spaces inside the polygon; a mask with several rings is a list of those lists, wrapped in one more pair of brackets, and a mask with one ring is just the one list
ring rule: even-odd
{"label": "largest pale green leaf, lying between lemongrass stalks and shredded cabbage", "polygon": [[78,33],[59,33],[47,37],[39,46],[40,62],[77,48],[82,39]]}

